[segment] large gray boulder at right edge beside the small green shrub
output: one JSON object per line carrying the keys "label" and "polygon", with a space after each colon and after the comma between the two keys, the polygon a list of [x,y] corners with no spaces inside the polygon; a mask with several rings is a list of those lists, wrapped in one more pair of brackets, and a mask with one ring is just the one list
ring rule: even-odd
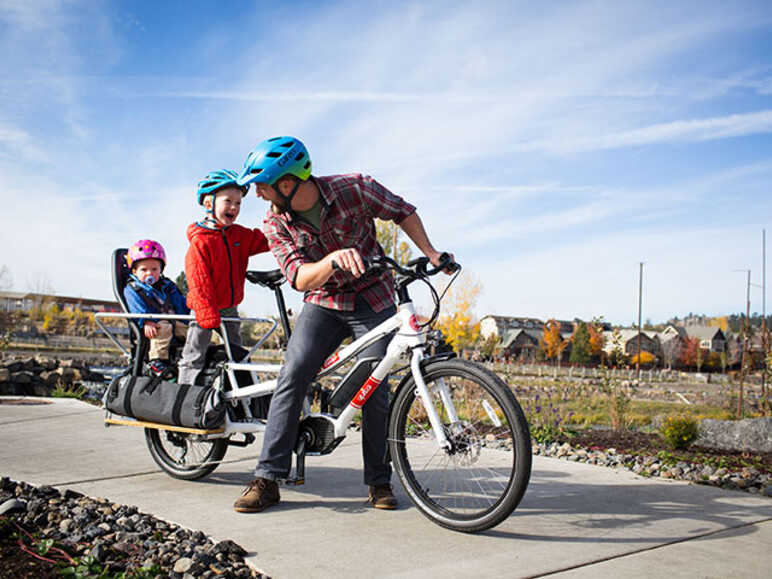
{"label": "large gray boulder at right edge beside the small green shrub", "polygon": [[703,420],[694,444],[722,450],[772,452],[772,418]]}

